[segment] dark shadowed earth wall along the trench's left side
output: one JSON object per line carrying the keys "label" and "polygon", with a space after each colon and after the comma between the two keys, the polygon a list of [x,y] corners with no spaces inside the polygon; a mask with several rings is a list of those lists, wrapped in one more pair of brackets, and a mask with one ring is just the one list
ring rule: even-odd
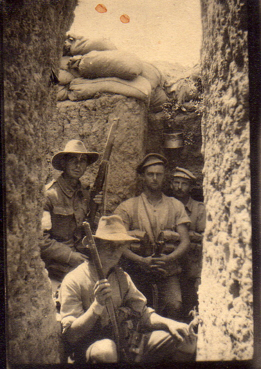
{"label": "dark shadowed earth wall along the trench's left side", "polygon": [[8,365],[59,361],[60,327],[40,259],[46,122],[76,0],[3,2]]}

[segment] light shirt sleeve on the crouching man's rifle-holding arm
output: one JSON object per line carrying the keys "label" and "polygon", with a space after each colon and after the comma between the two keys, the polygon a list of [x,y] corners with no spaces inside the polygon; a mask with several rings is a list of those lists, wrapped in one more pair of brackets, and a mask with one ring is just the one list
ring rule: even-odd
{"label": "light shirt sleeve on the crouching man's rifle-holding arm", "polygon": [[62,333],[65,333],[72,322],[84,312],[80,287],[70,276],[65,276],[60,285],[59,301]]}

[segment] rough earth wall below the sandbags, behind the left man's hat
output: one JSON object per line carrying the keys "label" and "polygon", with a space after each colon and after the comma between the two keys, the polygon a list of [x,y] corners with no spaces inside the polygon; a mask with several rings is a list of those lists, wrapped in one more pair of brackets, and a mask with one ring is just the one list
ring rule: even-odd
{"label": "rough earth wall below the sandbags, behind the left man's hat", "polygon": [[114,117],[119,120],[106,181],[106,213],[135,193],[135,168],[144,155],[147,129],[144,103],[132,97],[102,93],[88,100],[57,102],[56,114],[48,121],[47,181],[60,174],[50,165],[52,155],[75,138],[82,140],[89,151],[100,153],[99,160],[90,165],[81,178],[83,183],[91,186]]}

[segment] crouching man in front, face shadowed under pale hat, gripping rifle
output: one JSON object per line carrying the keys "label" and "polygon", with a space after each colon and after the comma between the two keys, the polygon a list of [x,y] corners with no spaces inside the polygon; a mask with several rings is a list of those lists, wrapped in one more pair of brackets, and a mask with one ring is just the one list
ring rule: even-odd
{"label": "crouching man in front, face shadowed under pale hat, gripping rifle", "polygon": [[[102,216],[95,233],[95,243],[106,279],[98,280],[93,260],[80,264],[63,279],[60,287],[62,334],[81,362],[118,362],[118,350],[109,323],[106,300],[112,298],[120,332],[120,345],[126,357],[131,356],[132,331],[142,327],[141,362],[189,360],[196,338],[185,323],[164,318],[146,306],[146,298],[135,287],[129,275],[117,262],[129,242],[129,236],[118,215]],[[135,330],[135,329],[134,329]],[[134,334],[135,335],[135,334]],[[136,360],[135,360],[136,361]]]}

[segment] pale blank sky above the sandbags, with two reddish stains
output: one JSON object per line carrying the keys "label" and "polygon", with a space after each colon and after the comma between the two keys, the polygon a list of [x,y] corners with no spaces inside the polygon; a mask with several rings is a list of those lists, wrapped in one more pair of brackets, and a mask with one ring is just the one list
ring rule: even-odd
{"label": "pale blank sky above the sandbags, with two reddish stains", "polygon": [[[146,61],[199,61],[201,20],[199,0],[79,0],[70,28],[87,38],[109,38],[118,49]],[[97,4],[107,9],[95,10]],[[120,16],[127,14],[128,23]]]}

